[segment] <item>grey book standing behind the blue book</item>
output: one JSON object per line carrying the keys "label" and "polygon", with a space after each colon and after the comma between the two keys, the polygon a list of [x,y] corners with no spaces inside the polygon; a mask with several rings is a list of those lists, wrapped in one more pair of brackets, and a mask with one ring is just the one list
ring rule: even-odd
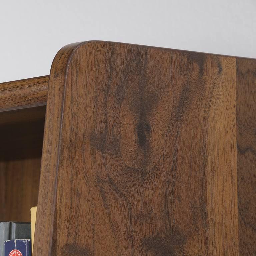
{"label": "grey book standing behind the blue book", "polygon": [[4,241],[31,239],[31,223],[0,222],[0,256],[4,256]]}

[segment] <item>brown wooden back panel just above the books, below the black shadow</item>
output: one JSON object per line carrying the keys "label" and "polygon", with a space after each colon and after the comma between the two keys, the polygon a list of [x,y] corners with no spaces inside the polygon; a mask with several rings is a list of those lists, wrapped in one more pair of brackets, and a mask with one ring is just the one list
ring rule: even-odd
{"label": "brown wooden back panel just above the books, below the black shadow", "polygon": [[41,158],[0,161],[0,219],[30,222],[37,205]]}

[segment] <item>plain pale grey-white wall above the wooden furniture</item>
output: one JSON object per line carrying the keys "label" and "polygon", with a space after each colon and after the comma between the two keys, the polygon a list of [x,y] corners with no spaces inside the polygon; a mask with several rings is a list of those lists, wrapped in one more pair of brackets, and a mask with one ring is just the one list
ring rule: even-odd
{"label": "plain pale grey-white wall above the wooden furniture", "polygon": [[0,0],[0,82],[47,75],[86,40],[256,58],[256,1]]}

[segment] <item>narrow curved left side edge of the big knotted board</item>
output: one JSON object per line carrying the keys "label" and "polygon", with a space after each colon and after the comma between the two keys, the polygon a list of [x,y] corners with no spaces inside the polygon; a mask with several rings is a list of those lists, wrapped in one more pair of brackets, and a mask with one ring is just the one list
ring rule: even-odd
{"label": "narrow curved left side edge of the big knotted board", "polygon": [[50,71],[33,255],[51,255],[59,148],[67,70],[74,52],[87,42],[64,46]]}

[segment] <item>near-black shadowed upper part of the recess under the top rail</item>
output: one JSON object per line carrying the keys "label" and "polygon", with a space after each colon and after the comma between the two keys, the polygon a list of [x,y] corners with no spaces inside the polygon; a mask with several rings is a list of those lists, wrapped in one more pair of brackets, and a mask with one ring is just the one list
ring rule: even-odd
{"label": "near-black shadowed upper part of the recess under the top rail", "polygon": [[0,112],[0,161],[41,158],[45,106]]}

